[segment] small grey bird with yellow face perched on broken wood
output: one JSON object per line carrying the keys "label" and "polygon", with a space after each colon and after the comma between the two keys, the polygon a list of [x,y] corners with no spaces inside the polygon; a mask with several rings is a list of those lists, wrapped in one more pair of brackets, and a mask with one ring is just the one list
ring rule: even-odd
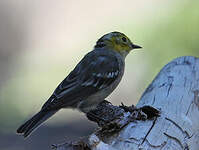
{"label": "small grey bird with yellow face perched on broken wood", "polygon": [[139,48],[142,47],[133,44],[124,33],[114,31],[103,35],[57,86],[40,111],[22,124],[17,133],[28,137],[62,108],[83,113],[95,109],[120,83],[126,56]]}

